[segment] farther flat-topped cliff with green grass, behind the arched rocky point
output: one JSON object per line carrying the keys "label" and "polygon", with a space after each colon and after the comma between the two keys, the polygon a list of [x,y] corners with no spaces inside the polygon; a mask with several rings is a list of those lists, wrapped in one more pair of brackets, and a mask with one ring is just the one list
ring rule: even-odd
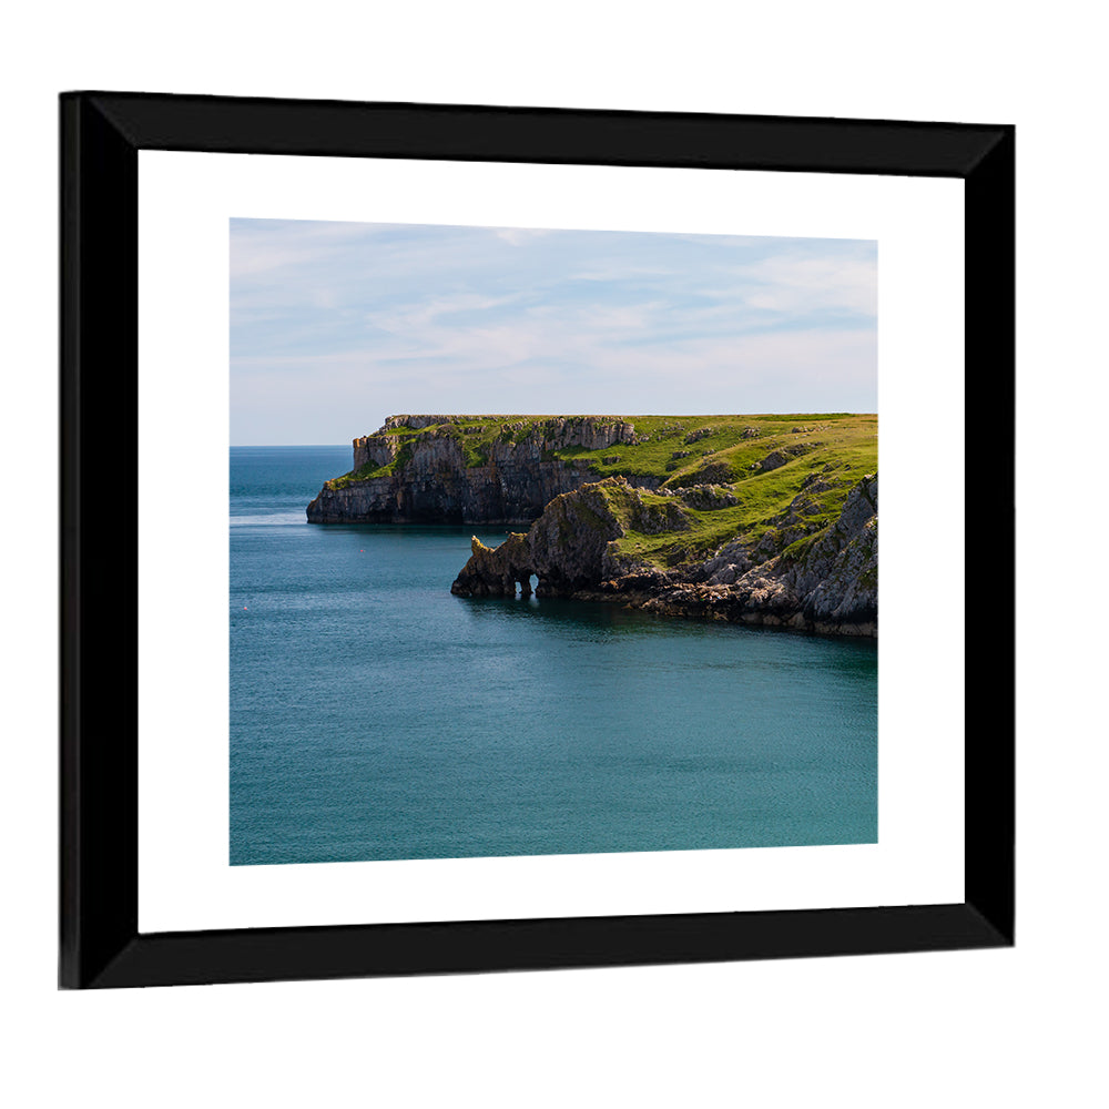
{"label": "farther flat-topped cliff with green grass, behind the arched rocky point", "polygon": [[[750,500],[755,486],[784,506],[820,469],[834,499],[847,471],[876,469],[877,417],[390,416],[353,447],[350,470],[308,505],[309,522],[519,525],[606,477],[700,486],[692,507],[715,511]],[[730,521],[716,521],[726,532]]]}

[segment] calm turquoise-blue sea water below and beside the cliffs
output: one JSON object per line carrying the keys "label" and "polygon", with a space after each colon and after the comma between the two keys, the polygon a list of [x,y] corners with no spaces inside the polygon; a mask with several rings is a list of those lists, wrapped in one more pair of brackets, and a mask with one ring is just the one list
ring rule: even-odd
{"label": "calm turquoise-blue sea water below and beside the cliffs", "polygon": [[231,862],[877,840],[877,650],[450,594],[470,536],[304,509],[349,447],[231,451]]}

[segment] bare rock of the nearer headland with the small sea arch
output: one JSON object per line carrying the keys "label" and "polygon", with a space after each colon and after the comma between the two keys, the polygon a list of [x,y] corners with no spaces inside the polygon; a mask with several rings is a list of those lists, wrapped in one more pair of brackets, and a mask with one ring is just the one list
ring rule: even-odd
{"label": "bare rock of the nearer headland with the small sea arch", "polygon": [[[806,533],[808,500],[801,494],[759,542],[736,539],[709,559],[663,570],[621,551],[617,540],[652,529],[681,532],[689,527],[684,501],[644,496],[622,478],[607,478],[559,496],[527,535],[513,535],[496,549],[475,539],[451,592],[510,597],[517,582],[530,592],[535,574],[540,597],[621,601],[668,615],[876,637],[877,501],[877,475],[867,475],[833,522]],[[798,529],[803,538],[794,539]]]}

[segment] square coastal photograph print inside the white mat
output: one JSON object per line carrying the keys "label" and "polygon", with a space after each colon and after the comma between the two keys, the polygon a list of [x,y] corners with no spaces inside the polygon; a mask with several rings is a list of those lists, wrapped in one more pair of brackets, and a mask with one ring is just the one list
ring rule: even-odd
{"label": "square coastal photograph print inside the white mat", "polygon": [[877,842],[876,242],[230,264],[233,866]]}

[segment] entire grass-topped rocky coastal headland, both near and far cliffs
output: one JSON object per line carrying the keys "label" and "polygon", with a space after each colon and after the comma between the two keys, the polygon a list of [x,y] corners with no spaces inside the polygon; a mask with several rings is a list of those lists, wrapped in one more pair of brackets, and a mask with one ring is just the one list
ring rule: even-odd
{"label": "entire grass-topped rocky coastal headland, both near and far cliffs", "polygon": [[313,523],[525,525],[460,597],[877,634],[877,417],[390,416]]}

